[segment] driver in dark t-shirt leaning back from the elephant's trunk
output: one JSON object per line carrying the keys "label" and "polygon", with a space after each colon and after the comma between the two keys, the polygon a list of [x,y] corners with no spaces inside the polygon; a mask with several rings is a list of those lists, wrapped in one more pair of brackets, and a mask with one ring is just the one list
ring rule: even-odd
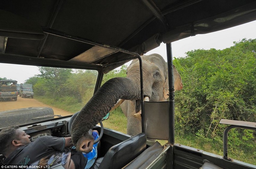
{"label": "driver in dark t-shirt leaning back from the elephant's trunk", "polygon": [[[95,133],[97,138],[98,132],[94,131],[94,135]],[[70,151],[71,137],[42,136],[31,142],[30,135],[18,126],[0,131],[0,153],[6,157],[4,165],[62,164],[65,169],[89,168],[97,157],[97,145],[93,146],[95,155],[87,166],[87,156],[92,156],[93,151],[87,154],[78,153],[74,149]]]}

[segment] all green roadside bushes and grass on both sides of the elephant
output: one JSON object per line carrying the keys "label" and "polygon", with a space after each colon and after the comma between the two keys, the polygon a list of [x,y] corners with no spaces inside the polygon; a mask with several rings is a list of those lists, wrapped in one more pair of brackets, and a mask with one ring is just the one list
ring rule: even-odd
{"label": "all green roadside bushes and grass on both sides of the elephant", "polygon": [[[175,58],[183,89],[175,93],[175,142],[223,155],[220,119],[256,122],[256,39],[243,39],[223,50],[197,49]],[[34,98],[75,113],[92,97],[97,72],[39,67],[33,84]],[[126,66],[106,74],[105,83],[125,77]],[[104,126],[126,133],[126,117],[120,108]],[[164,144],[166,141],[160,141]],[[256,165],[256,132],[232,129],[228,137],[230,158]]]}

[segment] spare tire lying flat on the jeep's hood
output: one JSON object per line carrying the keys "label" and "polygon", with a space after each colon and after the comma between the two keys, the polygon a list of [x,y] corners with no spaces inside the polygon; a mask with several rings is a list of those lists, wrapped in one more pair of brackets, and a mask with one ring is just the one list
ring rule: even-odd
{"label": "spare tire lying flat on the jeep's hood", "polygon": [[53,119],[54,117],[33,119],[53,114],[53,109],[49,107],[29,107],[0,111],[0,128]]}

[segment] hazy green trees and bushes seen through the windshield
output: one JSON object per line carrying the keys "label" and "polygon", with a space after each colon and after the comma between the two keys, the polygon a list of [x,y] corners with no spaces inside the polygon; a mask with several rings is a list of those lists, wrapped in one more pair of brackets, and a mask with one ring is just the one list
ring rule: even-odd
{"label": "hazy green trees and bushes seen through the windshield", "polygon": [[[48,98],[51,105],[80,110],[92,97],[97,79],[97,71],[72,70],[55,67],[39,67],[40,74],[30,77],[26,83],[33,84],[35,97]],[[61,104],[58,104],[60,102]],[[67,108],[70,111],[70,108]]]}

